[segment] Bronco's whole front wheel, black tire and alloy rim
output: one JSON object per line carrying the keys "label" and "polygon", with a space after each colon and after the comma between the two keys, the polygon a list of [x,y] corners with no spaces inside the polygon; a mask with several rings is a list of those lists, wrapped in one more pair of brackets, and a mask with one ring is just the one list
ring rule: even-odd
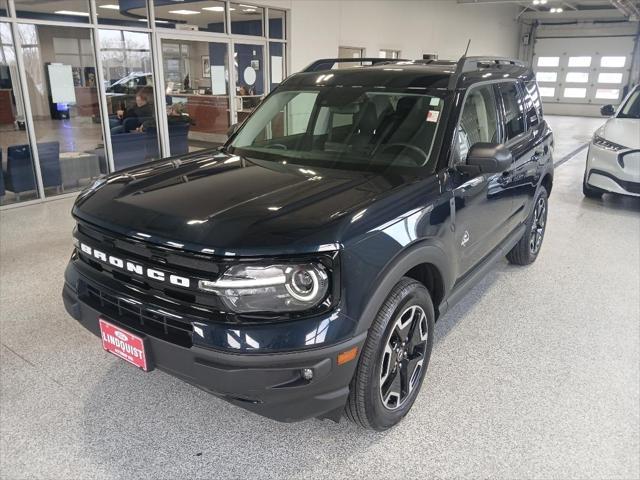
{"label": "Bronco's whole front wheel, black tire and alloy rim", "polygon": [[345,407],[349,420],[382,431],[409,412],[429,365],[434,321],[428,290],[402,278],[382,304],[360,354]]}

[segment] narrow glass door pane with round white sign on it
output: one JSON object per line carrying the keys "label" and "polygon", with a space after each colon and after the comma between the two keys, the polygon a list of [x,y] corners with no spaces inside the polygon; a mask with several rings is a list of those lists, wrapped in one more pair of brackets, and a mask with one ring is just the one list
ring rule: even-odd
{"label": "narrow glass door pane with round white sign on it", "polygon": [[260,104],[265,95],[265,43],[233,44],[235,72],[234,101],[237,122],[243,122]]}

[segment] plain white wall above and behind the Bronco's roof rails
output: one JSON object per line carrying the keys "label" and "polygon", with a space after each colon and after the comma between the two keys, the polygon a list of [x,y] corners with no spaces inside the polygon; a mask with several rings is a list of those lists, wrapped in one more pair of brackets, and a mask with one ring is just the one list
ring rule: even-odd
{"label": "plain white wall above and behind the Bronco's roof rails", "polygon": [[[254,2],[256,3],[256,2]],[[471,39],[471,55],[516,56],[520,26],[514,5],[460,5],[455,0],[263,0],[291,11],[291,72],[319,58],[336,57],[338,47],[380,49],[403,58],[436,53],[458,59]]]}

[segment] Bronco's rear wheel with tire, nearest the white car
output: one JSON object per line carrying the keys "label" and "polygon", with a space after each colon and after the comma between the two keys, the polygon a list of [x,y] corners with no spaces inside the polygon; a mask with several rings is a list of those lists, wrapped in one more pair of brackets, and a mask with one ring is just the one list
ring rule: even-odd
{"label": "Bronco's rear wheel with tire, nearest the white car", "polygon": [[538,193],[533,202],[533,210],[525,223],[526,228],[522,238],[507,253],[507,260],[514,265],[529,265],[536,261],[544,234],[547,230],[548,211],[547,189],[542,185],[538,188]]}

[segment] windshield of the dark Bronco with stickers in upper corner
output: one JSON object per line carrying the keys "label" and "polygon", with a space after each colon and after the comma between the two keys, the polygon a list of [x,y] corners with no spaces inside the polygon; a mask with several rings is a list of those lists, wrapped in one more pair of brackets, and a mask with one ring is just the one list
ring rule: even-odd
{"label": "windshield of the dark Bronco with stickers in upper corner", "polygon": [[275,92],[247,120],[229,150],[327,168],[429,165],[443,100],[371,90],[336,86]]}

